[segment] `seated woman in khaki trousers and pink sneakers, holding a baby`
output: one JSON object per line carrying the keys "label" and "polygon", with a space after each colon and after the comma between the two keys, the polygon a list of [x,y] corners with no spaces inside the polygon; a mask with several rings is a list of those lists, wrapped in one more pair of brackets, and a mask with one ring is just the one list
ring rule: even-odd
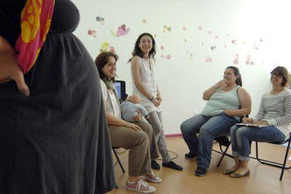
{"label": "seated woman in khaki trousers and pink sneakers, holding a baby", "polygon": [[141,193],[153,193],[155,188],[141,179],[160,183],[150,169],[151,158],[157,158],[157,146],[153,137],[153,128],[141,120],[141,113],[135,116],[136,123],[122,120],[115,81],[116,61],[118,56],[111,52],[98,55],[95,60],[101,78],[101,88],[108,122],[111,144],[129,150],[129,179],[126,188]]}

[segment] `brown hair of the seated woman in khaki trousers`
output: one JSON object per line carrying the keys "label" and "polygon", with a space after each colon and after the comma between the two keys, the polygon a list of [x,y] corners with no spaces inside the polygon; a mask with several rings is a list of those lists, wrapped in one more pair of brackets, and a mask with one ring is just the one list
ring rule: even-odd
{"label": "brown hair of the seated woman in khaki trousers", "polygon": [[[96,57],[96,60],[95,60],[95,64],[96,64],[96,67],[98,69],[98,72],[99,72],[99,76],[100,78],[103,80],[103,81],[106,81],[108,80],[108,78],[105,76],[105,74],[103,73],[102,71],[102,68],[105,66],[105,64],[108,63],[108,58],[109,57],[114,57],[115,58],[115,61],[118,60],[118,55],[116,55],[115,53],[112,53],[112,52],[103,52],[103,53],[100,53],[97,57]],[[116,76],[116,75],[115,75]],[[111,80],[114,82],[115,81],[115,77],[114,78],[111,78]]]}

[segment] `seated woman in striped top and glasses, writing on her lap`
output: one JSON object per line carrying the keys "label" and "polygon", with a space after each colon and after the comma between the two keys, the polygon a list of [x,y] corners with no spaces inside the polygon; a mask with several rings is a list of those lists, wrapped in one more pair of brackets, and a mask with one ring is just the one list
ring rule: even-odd
{"label": "seated woman in striped top and glasses, writing on her lap", "polygon": [[283,142],[291,132],[291,92],[286,90],[288,71],[276,67],[271,72],[272,90],[261,98],[259,112],[254,118],[243,118],[243,123],[269,125],[267,127],[231,127],[231,146],[235,165],[223,174],[233,178],[248,176],[249,141]]}

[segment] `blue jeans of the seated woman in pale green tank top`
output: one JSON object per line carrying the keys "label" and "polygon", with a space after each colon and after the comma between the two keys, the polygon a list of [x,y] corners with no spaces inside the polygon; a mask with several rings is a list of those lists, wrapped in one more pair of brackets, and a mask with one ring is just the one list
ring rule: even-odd
{"label": "blue jeans of the seated woman in pale green tank top", "polygon": [[[214,138],[229,134],[230,128],[238,123],[233,116],[219,113],[216,116],[193,116],[181,124],[181,132],[190,153],[198,154],[198,167],[208,168]],[[200,134],[199,139],[195,134]]]}

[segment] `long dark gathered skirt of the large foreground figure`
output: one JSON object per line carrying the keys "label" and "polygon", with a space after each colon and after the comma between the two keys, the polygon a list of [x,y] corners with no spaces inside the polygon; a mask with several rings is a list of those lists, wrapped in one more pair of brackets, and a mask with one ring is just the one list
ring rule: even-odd
{"label": "long dark gathered skirt of the large foreground figure", "polygon": [[25,75],[0,84],[0,193],[104,193],[115,187],[98,71],[71,33],[49,34]]}

